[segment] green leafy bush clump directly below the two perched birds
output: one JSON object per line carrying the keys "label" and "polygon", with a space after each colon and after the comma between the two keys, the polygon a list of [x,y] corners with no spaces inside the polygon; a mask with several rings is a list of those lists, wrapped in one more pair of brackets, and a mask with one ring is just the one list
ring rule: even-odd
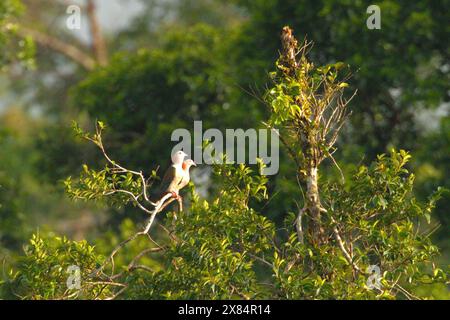
{"label": "green leafy bush clump directly below the two perched birds", "polygon": [[207,202],[193,194],[189,212],[178,216],[165,268],[132,287],[135,298],[264,297],[255,257],[270,255],[274,225],[247,205],[251,197],[264,197],[264,181],[244,166],[215,171],[224,178],[219,196]]}

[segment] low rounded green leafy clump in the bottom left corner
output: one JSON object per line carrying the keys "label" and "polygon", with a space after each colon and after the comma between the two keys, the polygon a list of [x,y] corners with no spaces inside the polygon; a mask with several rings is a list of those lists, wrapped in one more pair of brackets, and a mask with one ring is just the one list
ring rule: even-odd
{"label": "low rounded green leafy clump in the bottom left corner", "polygon": [[[104,297],[108,289],[101,283],[85,281],[95,271],[99,257],[86,241],[70,241],[63,237],[33,235],[25,248],[25,256],[18,264],[19,271],[10,272],[3,280],[2,290],[9,297],[21,299],[94,299]],[[80,270],[83,286],[69,288],[71,266]]]}

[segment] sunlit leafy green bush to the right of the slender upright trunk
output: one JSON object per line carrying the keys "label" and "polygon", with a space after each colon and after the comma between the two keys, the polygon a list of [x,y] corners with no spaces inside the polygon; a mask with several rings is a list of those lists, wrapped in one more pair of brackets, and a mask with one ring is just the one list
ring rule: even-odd
{"label": "sunlit leafy green bush to the right of the slender upright trunk", "polygon": [[[432,263],[438,255],[429,239],[432,228],[417,224],[429,224],[439,193],[426,205],[417,202],[413,196],[414,175],[405,168],[409,158],[404,151],[392,151],[390,157],[380,155],[369,168],[361,166],[348,188],[325,185],[325,228],[330,238],[337,230],[340,240],[335,237],[331,243],[311,248],[298,243],[295,233],[291,234],[284,244],[284,254],[276,255],[274,262],[285,298],[409,299],[415,296],[403,288],[405,285],[445,284],[448,271]],[[287,225],[294,219],[293,215],[288,217]],[[345,245],[351,263],[338,241]],[[381,270],[380,290],[367,287],[370,273],[366,270],[371,265]]]}

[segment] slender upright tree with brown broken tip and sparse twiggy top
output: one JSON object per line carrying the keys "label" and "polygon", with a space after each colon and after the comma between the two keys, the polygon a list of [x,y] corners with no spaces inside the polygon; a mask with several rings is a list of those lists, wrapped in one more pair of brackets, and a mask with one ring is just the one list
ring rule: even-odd
{"label": "slender upright tree with brown broken tip and sparse twiggy top", "polygon": [[303,241],[302,217],[306,215],[310,218],[309,239],[319,244],[325,241],[319,165],[326,158],[334,161],[334,144],[349,114],[347,104],[353,96],[344,98],[348,75],[338,76],[343,63],[315,68],[307,59],[310,43],[305,40],[300,45],[289,27],[283,28],[281,42],[277,71],[272,73],[274,84],[266,94],[272,110],[268,125],[280,126],[281,141],[306,187],[304,206],[296,222],[298,237]]}

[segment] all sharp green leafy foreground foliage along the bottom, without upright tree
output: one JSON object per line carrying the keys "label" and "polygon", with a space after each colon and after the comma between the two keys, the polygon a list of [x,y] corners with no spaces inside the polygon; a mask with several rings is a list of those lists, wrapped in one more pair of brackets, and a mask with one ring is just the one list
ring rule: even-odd
{"label": "all sharp green leafy foreground foliage along the bottom, without upright tree", "polygon": [[[345,188],[325,183],[324,228],[330,241],[320,246],[299,242],[295,215],[287,215],[284,227],[277,230],[252,209],[252,198],[268,201],[266,177],[244,165],[214,165],[214,174],[220,177],[218,196],[201,200],[191,189],[188,211],[177,213],[172,222],[174,214],[168,214],[163,234],[153,231],[147,246],[131,238],[127,250],[137,252],[132,248],[140,247],[142,251],[128,255],[131,261],[118,260],[119,273],[109,268],[111,275],[106,269],[99,274],[108,259],[84,241],[34,236],[18,271],[2,287],[36,299],[417,298],[414,288],[444,284],[448,272],[433,263],[438,249],[429,239],[429,230],[418,224],[429,223],[439,193],[425,205],[415,199],[414,176],[405,168],[409,159],[404,151],[392,151],[370,167],[361,166]],[[82,194],[87,187],[99,192],[95,197],[107,198],[101,193],[107,174],[107,170],[84,171],[69,192]],[[117,176],[118,181],[127,178],[126,173]],[[133,184],[121,187],[136,192]],[[111,205],[128,202],[116,198]],[[151,267],[138,264],[151,253],[162,255],[142,260]],[[72,264],[82,270],[81,291],[65,287],[64,268]],[[367,285],[370,265],[382,271],[380,289]],[[30,280],[36,277],[38,283]]]}

